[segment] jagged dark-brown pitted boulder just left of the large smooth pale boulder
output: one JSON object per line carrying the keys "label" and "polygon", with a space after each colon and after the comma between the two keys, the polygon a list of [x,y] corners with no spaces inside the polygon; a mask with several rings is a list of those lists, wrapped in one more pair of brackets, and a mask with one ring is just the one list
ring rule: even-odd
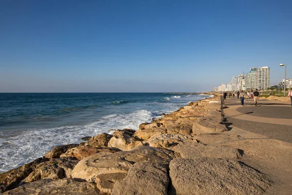
{"label": "jagged dark-brown pitted boulder just left of the large smooth pale boulder", "polygon": [[70,177],[78,160],[72,157],[54,158],[47,162],[39,163],[35,170],[21,181],[20,184],[37,181],[40,179],[60,179]]}

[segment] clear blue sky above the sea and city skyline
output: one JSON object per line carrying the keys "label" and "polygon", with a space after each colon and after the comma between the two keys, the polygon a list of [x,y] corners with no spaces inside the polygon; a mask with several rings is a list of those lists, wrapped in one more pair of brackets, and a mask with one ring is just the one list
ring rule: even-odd
{"label": "clear blue sky above the sea and city skyline", "polygon": [[197,92],[292,78],[291,0],[0,0],[0,92]]}

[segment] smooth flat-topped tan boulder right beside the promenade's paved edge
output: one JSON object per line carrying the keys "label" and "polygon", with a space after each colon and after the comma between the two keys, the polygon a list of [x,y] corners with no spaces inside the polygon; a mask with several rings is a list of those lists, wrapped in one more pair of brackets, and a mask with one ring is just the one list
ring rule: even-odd
{"label": "smooth flat-topped tan boulder right beside the promenade's paved edge", "polygon": [[200,117],[193,124],[193,135],[205,133],[221,133],[227,131],[225,125],[221,124],[221,117]]}

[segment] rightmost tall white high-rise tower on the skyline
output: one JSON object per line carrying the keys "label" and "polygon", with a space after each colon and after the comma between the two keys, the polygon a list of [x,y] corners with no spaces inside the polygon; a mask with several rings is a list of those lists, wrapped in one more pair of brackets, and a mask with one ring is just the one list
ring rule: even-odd
{"label": "rightmost tall white high-rise tower on the skyline", "polygon": [[256,88],[258,90],[267,90],[268,87],[270,87],[270,68],[267,66],[257,68]]}

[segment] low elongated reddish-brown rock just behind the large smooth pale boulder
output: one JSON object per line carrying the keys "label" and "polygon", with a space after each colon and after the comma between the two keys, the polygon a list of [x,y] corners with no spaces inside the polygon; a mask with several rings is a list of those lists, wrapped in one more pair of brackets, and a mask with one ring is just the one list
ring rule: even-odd
{"label": "low elongated reddish-brown rock just behind the large smooth pale boulder", "polygon": [[76,148],[71,148],[69,150],[67,150],[66,153],[63,153],[62,155],[60,155],[60,157],[75,157],[78,160],[82,160],[83,158],[87,157],[87,156],[91,156],[94,155],[96,153],[99,152],[111,152],[111,153],[115,153],[116,151],[113,148],[96,148],[96,147],[92,147],[92,146],[78,146]]}

